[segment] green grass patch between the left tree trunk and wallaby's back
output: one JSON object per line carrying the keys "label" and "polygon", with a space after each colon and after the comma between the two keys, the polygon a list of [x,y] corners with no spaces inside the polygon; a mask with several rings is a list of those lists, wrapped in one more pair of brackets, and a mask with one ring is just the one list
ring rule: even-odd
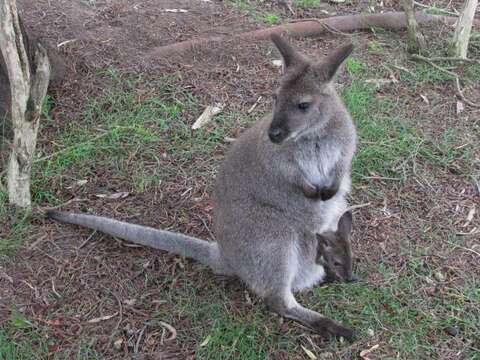
{"label": "green grass patch between the left tree trunk and wallaby's back", "polygon": [[[184,115],[198,113],[197,103],[189,93],[168,85],[168,79],[159,85],[158,91],[142,93],[136,82],[121,79],[115,72],[109,74],[117,80],[114,86],[87,103],[81,118],[56,135],[52,153],[35,163],[34,202],[59,203],[62,199],[52,191],[52,183],[64,186],[65,180],[71,181],[68,173],[83,179],[94,176],[95,169],[100,167],[124,177],[127,183],[133,177],[135,190],[144,192],[158,183],[162,175],[177,171],[158,171],[165,165],[162,153],[171,162],[178,162],[177,166],[189,163],[188,166],[195,167],[193,159],[209,156],[223,140],[226,128],[221,117],[192,132]],[[142,161],[130,164],[132,155]]]}

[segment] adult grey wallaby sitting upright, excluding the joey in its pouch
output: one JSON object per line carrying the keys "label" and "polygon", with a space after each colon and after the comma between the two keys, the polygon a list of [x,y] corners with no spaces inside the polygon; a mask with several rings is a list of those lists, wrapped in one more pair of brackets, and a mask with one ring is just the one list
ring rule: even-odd
{"label": "adult grey wallaby sitting upright, excluding the joey in its pouch", "polygon": [[356,132],[333,78],[353,46],[317,62],[278,35],[272,41],[285,74],[272,113],[234,142],[220,167],[216,242],[91,215],[48,215],[196,259],[215,273],[239,277],[273,311],[322,337],[352,339],[351,329],[302,307],[293,292],[324,279],[315,234],[336,231],[347,206]]}

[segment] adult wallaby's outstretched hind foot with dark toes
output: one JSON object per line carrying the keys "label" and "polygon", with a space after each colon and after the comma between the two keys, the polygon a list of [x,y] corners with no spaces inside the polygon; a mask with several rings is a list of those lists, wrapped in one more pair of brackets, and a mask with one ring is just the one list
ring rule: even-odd
{"label": "adult wallaby's outstretched hind foot with dark toes", "polygon": [[286,318],[295,320],[324,339],[343,336],[349,341],[353,341],[354,332],[340,323],[329,319],[316,311],[309,310],[300,305],[291,292],[284,296],[271,295],[265,299],[268,307],[277,314]]}

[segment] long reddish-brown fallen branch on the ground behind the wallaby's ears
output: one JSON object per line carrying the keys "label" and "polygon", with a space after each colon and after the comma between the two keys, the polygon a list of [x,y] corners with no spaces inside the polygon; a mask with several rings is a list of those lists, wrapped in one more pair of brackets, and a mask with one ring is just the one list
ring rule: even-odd
{"label": "long reddish-brown fallen branch on the ground behind the wallaby's ears", "polygon": [[[443,23],[453,25],[457,17],[429,15],[423,12],[415,13],[419,25]],[[475,26],[480,26],[480,20],[474,21]],[[337,32],[354,30],[366,30],[372,27],[383,29],[403,29],[406,27],[406,16],[403,12],[388,12],[382,14],[361,14],[334,16],[324,19],[309,19],[296,21],[283,25],[273,26],[266,29],[259,29],[240,33],[235,36],[213,36],[181,41],[175,44],[160,46],[152,49],[151,57],[165,57],[174,54],[182,54],[196,48],[202,48],[227,40],[267,40],[272,34],[288,33],[291,37],[318,36],[334,29]]]}

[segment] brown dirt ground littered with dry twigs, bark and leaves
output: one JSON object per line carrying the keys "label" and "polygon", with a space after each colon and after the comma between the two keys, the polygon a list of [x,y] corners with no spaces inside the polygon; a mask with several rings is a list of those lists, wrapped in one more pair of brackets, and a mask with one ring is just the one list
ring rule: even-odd
{"label": "brown dirt ground littered with dry twigs, bark and leaves", "polygon": [[[376,11],[399,10],[397,1],[373,3]],[[460,3],[435,2],[439,8],[450,11],[459,9]],[[255,11],[275,11],[285,19],[321,18],[366,12],[371,4],[366,0],[345,4],[325,1],[316,7],[299,8],[292,14],[288,2],[263,1]],[[279,71],[272,65],[273,49],[266,42],[227,42],[168,59],[151,56],[152,50],[158,46],[267,26],[252,16],[251,11],[234,2],[19,0],[19,6],[28,28],[47,44],[59,49],[68,69],[64,81],[50,89],[51,121],[43,125],[39,156],[48,156],[55,149],[58,134],[72,123],[81,121],[80,114],[85,111],[88,99],[102,97],[112,86],[115,80],[105,76],[108,69],[125,74],[126,79],[140,79],[139,97],[145,92],[155,93],[155,87],[161,85],[159,79],[172,75],[175,87],[188,91],[198,104],[197,110],[182,114],[187,124],[192,124],[205,106],[217,102],[228,104],[232,114],[246,113],[254,104],[257,106],[253,115],[261,114],[269,106]],[[185,9],[186,12],[172,13],[166,9]],[[378,55],[367,51],[373,36],[370,32],[357,33],[353,34],[353,41],[356,54],[374,67],[381,60]],[[403,36],[398,35],[400,39]],[[327,33],[321,41],[305,39],[296,44],[305,52],[318,56],[344,41],[345,36]],[[388,44],[385,46],[389,47]],[[401,51],[394,45],[390,48]],[[395,71],[401,73],[403,70]],[[340,74],[339,82],[346,77],[345,72]],[[454,93],[449,82],[419,84],[414,94],[402,85],[385,91],[404,103],[403,107],[411,118],[421,113],[431,120],[428,124],[417,124],[427,137],[436,138],[452,128],[478,131],[478,127],[472,125],[472,119],[477,119],[478,123],[478,109],[467,107],[460,118],[456,115],[454,97],[449,101],[439,98],[439,94]],[[478,85],[473,85],[467,94],[478,101],[479,91]],[[435,106],[422,101],[418,94],[426,94],[431,102],[435,101]],[[379,96],[382,96],[382,90]],[[226,135],[236,137],[245,126],[238,118]],[[474,144],[475,141],[478,141],[477,132],[466,136],[465,144]],[[221,155],[227,147],[228,143],[224,142],[214,148],[214,153]],[[157,150],[162,154],[165,151],[161,145]],[[380,274],[367,270],[380,262],[398,273],[406,271],[410,266],[407,259],[411,255],[405,253],[406,248],[411,253],[416,249],[427,249],[416,254],[416,259],[423,259],[420,267],[435,269],[447,278],[442,285],[430,284],[422,291],[432,291],[442,297],[449,286],[462,285],[464,273],[480,276],[480,249],[465,251],[465,248],[475,249],[479,237],[466,236],[461,246],[455,248],[451,247],[451,238],[448,237],[454,228],[462,233],[479,229],[480,194],[478,182],[475,183],[478,181],[478,147],[474,153],[476,164],[473,167],[476,166],[477,172],[473,175],[462,172],[460,159],[458,163],[455,160],[430,169],[425,165],[418,173],[414,168],[413,175],[401,184],[375,174],[356,183],[352,203],[368,204],[355,214],[354,238],[358,266],[364,269],[365,281],[382,286],[384,279]],[[0,159],[5,160],[6,156]],[[132,162],[137,160],[133,154]],[[94,170],[95,182],[75,186],[75,165],[70,168],[70,180],[59,180],[50,186],[55,198],[68,201],[62,209],[94,212],[211,238],[212,203],[209,194],[214,176],[212,169],[218,163],[211,166],[213,160],[201,156],[194,156],[191,162],[197,160],[201,162],[198,164],[201,170],[207,169],[206,173],[197,174],[196,168],[190,165],[182,170],[183,163],[172,160],[170,165],[177,165],[179,170],[162,184],[154,186],[153,193],[135,194],[125,178],[104,168]],[[203,166],[203,162],[208,164]],[[130,195],[118,199],[96,196],[122,192]],[[44,198],[36,206],[41,209],[51,204]],[[467,214],[472,208],[477,210],[468,220]],[[7,236],[14,230],[14,215],[10,216],[0,224],[0,236]],[[217,278],[189,260],[131,247],[99,233],[52,223],[39,215],[28,223],[30,226],[20,235],[25,240],[23,245],[0,258],[0,324],[10,321],[12,314],[24,314],[35,324],[41,336],[48,339],[47,357],[57,354],[65,358],[201,358],[196,356],[196,351],[204,339],[197,338],[198,324],[188,311],[184,313],[175,309],[173,314],[167,315],[172,311],[169,303],[177,301],[176,296],[187,296],[186,289],[190,285],[195,285],[195,294],[191,296],[209,301],[215,294],[217,301],[225,303],[228,312],[242,314],[245,321],[256,316],[254,307],[267,312],[260,301],[250,299],[237,280]],[[408,247],[405,242],[409,243]],[[478,303],[469,306],[472,312],[478,313]],[[167,325],[166,320],[161,322],[162,318],[169,319]],[[295,327],[291,323],[279,325],[278,320],[269,319],[269,331],[280,328],[280,331],[288,332],[285,326]],[[310,344],[304,333],[300,329],[298,334],[301,335],[295,333],[295,336],[287,337],[296,341],[300,350],[291,354],[278,350],[271,354],[272,357],[308,358],[308,353],[302,351],[302,347]],[[16,341],[20,341],[23,335],[16,336]],[[478,350],[478,339],[478,334],[473,340],[449,339],[446,345],[438,345],[438,358],[454,359],[455,352],[451,349],[458,352],[470,346]],[[379,358],[395,358],[394,351],[389,353],[385,339],[377,340],[385,342],[385,355]],[[313,337],[313,341],[319,340]],[[365,340],[361,346],[367,346],[367,343],[370,344]],[[92,353],[82,352],[83,346]],[[321,349],[321,344],[319,346]],[[358,356],[357,350],[360,349],[345,347],[339,350],[338,354],[343,355],[337,355],[337,358],[353,358],[349,356]],[[330,349],[328,354],[332,352]],[[75,355],[80,353],[83,355]],[[470,358],[476,358],[475,354]]]}

